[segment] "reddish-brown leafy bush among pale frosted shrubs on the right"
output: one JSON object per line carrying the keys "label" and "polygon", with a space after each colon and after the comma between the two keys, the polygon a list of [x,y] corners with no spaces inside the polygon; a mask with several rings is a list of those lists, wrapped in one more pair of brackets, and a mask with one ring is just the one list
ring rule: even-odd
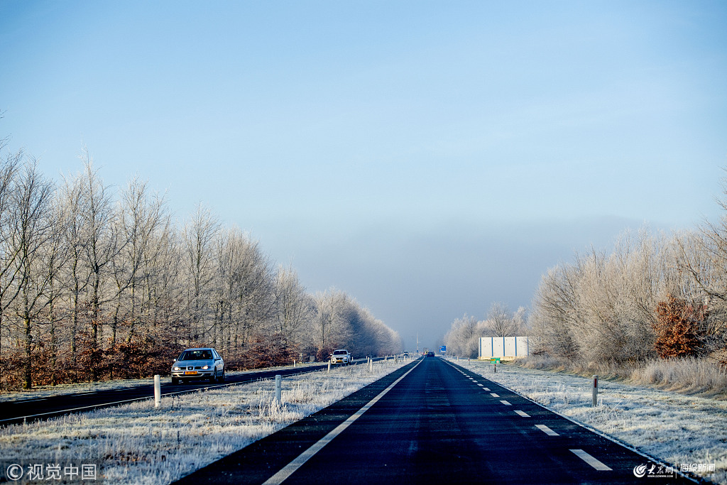
{"label": "reddish-brown leafy bush among pale frosted shrubs on the right", "polygon": [[699,321],[704,310],[697,310],[685,300],[669,295],[667,301],[656,305],[654,349],[661,358],[688,357],[699,352]]}

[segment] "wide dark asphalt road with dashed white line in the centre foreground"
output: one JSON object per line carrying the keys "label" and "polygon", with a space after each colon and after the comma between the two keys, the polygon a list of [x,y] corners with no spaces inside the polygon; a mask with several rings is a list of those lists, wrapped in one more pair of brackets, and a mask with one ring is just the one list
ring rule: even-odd
{"label": "wide dark asphalt road with dashed white line in the centre foreground", "polygon": [[177,484],[694,483],[659,466],[428,357]]}

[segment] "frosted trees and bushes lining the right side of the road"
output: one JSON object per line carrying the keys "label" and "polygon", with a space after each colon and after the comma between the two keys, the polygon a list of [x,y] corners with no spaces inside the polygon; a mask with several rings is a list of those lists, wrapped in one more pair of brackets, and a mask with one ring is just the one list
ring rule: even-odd
{"label": "frosted trees and bushes lining the right side of the road", "polygon": [[591,248],[549,268],[528,318],[501,303],[484,321],[465,315],[446,334],[448,350],[475,357],[478,337],[519,333],[531,354],[586,366],[686,357],[727,366],[727,202],[719,204],[718,223],[626,231],[608,252]]}

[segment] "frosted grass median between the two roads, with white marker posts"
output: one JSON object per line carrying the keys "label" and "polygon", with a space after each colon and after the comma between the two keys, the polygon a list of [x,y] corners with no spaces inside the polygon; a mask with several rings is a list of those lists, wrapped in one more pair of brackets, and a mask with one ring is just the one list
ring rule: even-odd
{"label": "frosted grass median between the two roads, with white marker posts", "polygon": [[282,403],[274,382],[137,402],[47,421],[0,428],[4,460],[54,457],[103,462],[108,484],[168,484],[313,414],[393,372],[406,362],[284,377]]}

